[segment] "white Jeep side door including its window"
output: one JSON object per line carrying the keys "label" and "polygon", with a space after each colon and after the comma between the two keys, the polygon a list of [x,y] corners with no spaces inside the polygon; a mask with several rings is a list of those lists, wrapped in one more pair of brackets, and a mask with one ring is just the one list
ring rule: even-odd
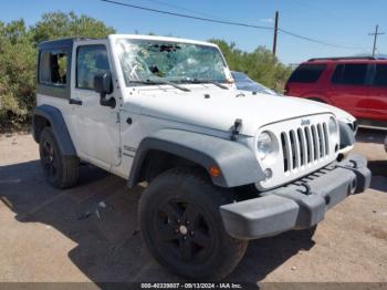
{"label": "white Jeep side door including its window", "polygon": [[77,111],[79,154],[105,169],[111,169],[121,160],[119,105],[115,108],[102,106],[100,94],[93,90],[94,75],[111,70],[107,50],[103,44],[79,45],[75,50],[73,55],[76,55],[76,73],[72,99],[82,102],[73,104]]}

